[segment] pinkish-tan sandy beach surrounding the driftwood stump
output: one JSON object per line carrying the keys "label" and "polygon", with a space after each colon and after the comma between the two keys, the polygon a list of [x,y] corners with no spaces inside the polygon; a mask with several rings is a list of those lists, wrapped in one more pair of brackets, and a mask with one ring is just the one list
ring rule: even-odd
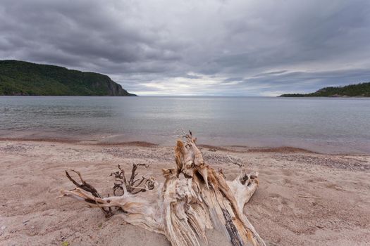
{"label": "pinkish-tan sandy beach surrounding the driftwood stump", "polygon": [[[259,188],[244,208],[267,245],[370,245],[370,156],[323,155],[295,148],[202,146],[207,164],[227,179],[238,167],[259,171]],[[70,198],[66,169],[81,171],[101,194],[118,164],[150,164],[140,174],[163,181],[173,167],[173,147],[149,143],[96,145],[68,141],[0,141],[0,245],[169,245],[163,235],[109,219]],[[155,196],[150,192],[144,196]],[[220,245],[214,237],[210,245]]]}

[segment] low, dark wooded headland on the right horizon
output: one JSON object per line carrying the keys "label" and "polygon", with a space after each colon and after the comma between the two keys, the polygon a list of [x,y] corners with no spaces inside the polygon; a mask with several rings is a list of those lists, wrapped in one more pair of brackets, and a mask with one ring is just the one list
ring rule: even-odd
{"label": "low, dark wooded headland on the right horizon", "polygon": [[328,96],[328,97],[370,97],[370,82],[360,84],[350,84],[347,86],[325,87],[313,93],[283,94],[282,97],[308,97],[308,96]]}

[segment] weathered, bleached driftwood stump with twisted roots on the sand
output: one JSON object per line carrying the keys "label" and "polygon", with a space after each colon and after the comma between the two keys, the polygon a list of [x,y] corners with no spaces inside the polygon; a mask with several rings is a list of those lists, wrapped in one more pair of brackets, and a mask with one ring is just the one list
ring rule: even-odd
{"label": "weathered, bleached driftwood stump with twisted roots on the sand", "polygon": [[[258,174],[241,171],[236,179],[226,181],[222,171],[215,171],[204,162],[191,132],[183,138],[175,147],[176,168],[162,169],[164,183],[146,177],[135,179],[138,165],[134,164],[130,181],[125,179],[121,167],[112,174],[116,179],[114,193],[121,190],[121,195],[101,198],[78,172],[82,184],[67,172],[77,188],[61,193],[103,209],[106,216],[111,216],[116,207],[121,211],[117,216],[166,235],[172,245],[208,245],[207,229],[220,232],[232,245],[265,245],[242,212],[257,189]],[[152,189],[159,196],[156,204],[145,200],[141,193]]]}

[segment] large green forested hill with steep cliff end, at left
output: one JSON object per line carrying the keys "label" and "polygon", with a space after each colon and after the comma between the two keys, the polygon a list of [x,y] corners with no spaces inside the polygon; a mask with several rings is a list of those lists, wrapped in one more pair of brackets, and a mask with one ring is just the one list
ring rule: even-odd
{"label": "large green forested hill with steep cliff end, at left", "polygon": [[136,96],[106,75],[19,60],[0,60],[0,95]]}

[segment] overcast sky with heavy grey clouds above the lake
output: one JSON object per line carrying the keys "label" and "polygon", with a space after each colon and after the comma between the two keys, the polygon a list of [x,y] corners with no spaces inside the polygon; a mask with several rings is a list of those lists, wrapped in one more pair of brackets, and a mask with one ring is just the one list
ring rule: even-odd
{"label": "overcast sky with heavy grey clouds above the lake", "polygon": [[369,0],[1,0],[0,59],[140,96],[277,96],[370,81]]}

